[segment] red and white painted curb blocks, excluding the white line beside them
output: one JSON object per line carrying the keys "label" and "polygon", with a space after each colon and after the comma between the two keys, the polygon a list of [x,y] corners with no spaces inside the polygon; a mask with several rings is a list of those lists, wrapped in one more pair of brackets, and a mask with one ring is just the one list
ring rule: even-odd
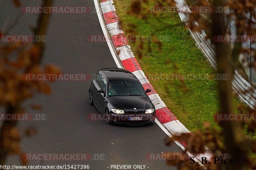
{"label": "red and white painted curb blocks, excluding the white line beside them", "polygon": [[[148,97],[156,107],[156,117],[158,120],[172,135],[190,133],[190,131],[166,107],[160,96],[156,93],[156,90],[149,83],[144,72],[141,70],[140,64],[137,62],[131,47],[128,45],[124,32],[119,25],[119,19],[116,14],[115,6],[113,5],[113,0],[101,0],[100,8],[108,33],[124,69],[131,71],[140,80],[145,90],[148,88],[151,89],[151,92],[148,93]],[[184,142],[181,142],[181,144],[186,146],[186,143]]]}

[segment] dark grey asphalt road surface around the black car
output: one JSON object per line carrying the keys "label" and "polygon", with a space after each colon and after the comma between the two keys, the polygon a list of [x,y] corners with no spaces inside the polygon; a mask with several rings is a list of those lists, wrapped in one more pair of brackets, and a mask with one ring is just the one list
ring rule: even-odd
{"label": "dark grey asphalt road surface around the black car", "polygon": [[[22,6],[38,6],[40,1],[22,0]],[[55,0],[54,6],[89,6],[94,8],[93,0],[70,1]],[[36,14],[20,13],[14,9],[12,1],[0,2],[0,28],[6,32],[16,16],[8,34],[32,34],[30,26],[35,25]],[[49,23],[46,48],[42,64],[54,63],[62,73],[91,74],[104,67],[116,67],[106,42],[87,41],[90,35],[102,35],[96,13],[52,14]],[[148,160],[148,153],[181,151],[173,144],[164,145],[167,135],[157,124],[142,127],[108,125],[104,121],[92,121],[88,114],[99,114],[89,105],[88,88],[90,81],[58,81],[51,84],[50,96],[36,95],[26,101],[27,113],[46,114],[44,121],[20,121],[19,127],[36,127],[35,137],[22,139],[25,153],[89,153],[103,154],[104,160],[90,161],[29,161],[29,165],[90,165],[90,169],[110,169],[110,165],[146,165],[146,169],[176,169],[167,167],[165,161]],[[31,103],[41,104],[43,109],[31,110]],[[2,113],[3,113],[2,109]],[[7,164],[19,165],[17,157],[12,156]],[[109,167],[109,168],[108,168]],[[148,168],[147,168],[148,167]]]}

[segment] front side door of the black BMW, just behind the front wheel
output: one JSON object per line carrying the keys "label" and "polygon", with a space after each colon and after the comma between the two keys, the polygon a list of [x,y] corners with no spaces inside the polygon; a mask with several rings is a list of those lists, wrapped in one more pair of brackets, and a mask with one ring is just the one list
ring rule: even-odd
{"label": "front side door of the black BMW, just behind the front wheel", "polygon": [[106,97],[106,87],[107,87],[107,80],[103,76],[103,79],[100,82],[100,89],[102,89],[105,93],[97,92],[98,101],[99,101],[99,105],[98,106],[99,106],[100,111],[102,113],[105,113],[105,108],[106,108],[107,103],[108,103],[107,100],[105,99],[105,97]]}

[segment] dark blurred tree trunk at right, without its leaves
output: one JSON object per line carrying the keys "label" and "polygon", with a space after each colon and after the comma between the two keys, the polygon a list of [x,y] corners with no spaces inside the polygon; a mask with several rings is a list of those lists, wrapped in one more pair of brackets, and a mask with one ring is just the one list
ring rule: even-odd
{"label": "dark blurred tree trunk at right, without its leaves", "polygon": [[[213,0],[212,5],[224,8],[224,2],[222,0]],[[226,23],[224,13],[212,13],[211,19],[212,37],[226,35]],[[241,33],[238,32],[238,35],[240,34]],[[231,55],[231,60],[235,62],[238,59],[238,55],[240,54],[239,50],[242,46],[242,43],[236,42],[235,48],[231,52],[228,42],[212,42],[216,49],[215,52],[218,67],[217,72],[221,75],[227,74],[229,77],[228,80],[220,80],[217,82],[220,97],[220,113],[234,113],[231,85],[231,78],[233,78],[234,68],[230,67],[230,64],[228,62],[228,56]],[[232,158],[235,160],[234,164],[231,164],[230,167],[237,170],[243,169],[247,164],[246,158],[248,154],[248,148],[245,146],[244,143],[245,137],[243,135],[241,125],[238,122],[225,121],[220,122],[220,126],[223,128],[224,144],[226,146],[227,153],[230,153],[232,155]]]}

